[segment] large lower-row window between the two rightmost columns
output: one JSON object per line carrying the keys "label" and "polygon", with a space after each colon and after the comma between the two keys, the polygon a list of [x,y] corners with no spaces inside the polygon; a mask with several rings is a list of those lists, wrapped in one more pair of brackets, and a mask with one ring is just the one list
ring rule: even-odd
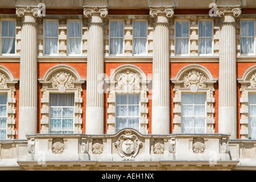
{"label": "large lower-row window between the two rightmost columns", "polygon": [[206,133],[205,94],[182,94],[182,133]]}

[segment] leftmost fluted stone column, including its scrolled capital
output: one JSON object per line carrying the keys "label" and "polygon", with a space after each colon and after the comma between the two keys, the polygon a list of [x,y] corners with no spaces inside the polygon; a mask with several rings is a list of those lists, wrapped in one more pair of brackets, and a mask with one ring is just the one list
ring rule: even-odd
{"label": "leftmost fluted stone column, including its scrolled capital", "polygon": [[18,138],[37,133],[37,17],[38,6],[16,6],[22,18],[21,62],[19,77]]}

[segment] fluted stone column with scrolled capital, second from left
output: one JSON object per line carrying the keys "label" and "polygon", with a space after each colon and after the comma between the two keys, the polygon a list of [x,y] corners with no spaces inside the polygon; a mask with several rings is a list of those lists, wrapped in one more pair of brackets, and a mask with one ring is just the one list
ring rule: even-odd
{"label": "fluted stone column with scrolled capital, second from left", "polygon": [[83,14],[89,18],[85,132],[103,134],[103,18],[107,9],[84,6]]}

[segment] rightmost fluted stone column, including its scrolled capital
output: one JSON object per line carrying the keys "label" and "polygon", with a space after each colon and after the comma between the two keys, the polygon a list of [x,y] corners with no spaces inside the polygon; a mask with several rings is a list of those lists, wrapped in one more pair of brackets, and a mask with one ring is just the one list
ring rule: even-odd
{"label": "rightmost fluted stone column, including its scrolled capital", "polygon": [[240,7],[218,7],[221,17],[219,38],[219,123],[218,133],[237,138],[237,73],[235,18],[241,15]]}

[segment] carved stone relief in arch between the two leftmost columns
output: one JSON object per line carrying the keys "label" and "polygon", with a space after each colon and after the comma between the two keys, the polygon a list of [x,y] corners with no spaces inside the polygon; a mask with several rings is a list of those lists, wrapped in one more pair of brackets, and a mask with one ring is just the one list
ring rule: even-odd
{"label": "carved stone relief in arch between the two leftmost columns", "polygon": [[65,92],[65,88],[74,88],[75,77],[66,71],[58,71],[53,73],[49,78],[52,88],[58,88],[59,92]]}

